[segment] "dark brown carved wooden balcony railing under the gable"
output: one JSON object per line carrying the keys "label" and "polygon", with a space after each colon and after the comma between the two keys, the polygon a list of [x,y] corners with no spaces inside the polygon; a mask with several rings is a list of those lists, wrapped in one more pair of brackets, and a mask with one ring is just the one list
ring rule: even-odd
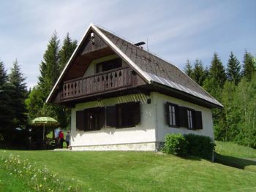
{"label": "dark brown carved wooden balcony railing under the gable", "polygon": [[121,67],[108,72],[101,72],[89,77],[80,77],[65,81],[59,94],[60,101],[93,96],[118,89],[125,89],[136,85],[136,75],[132,74],[129,67]]}

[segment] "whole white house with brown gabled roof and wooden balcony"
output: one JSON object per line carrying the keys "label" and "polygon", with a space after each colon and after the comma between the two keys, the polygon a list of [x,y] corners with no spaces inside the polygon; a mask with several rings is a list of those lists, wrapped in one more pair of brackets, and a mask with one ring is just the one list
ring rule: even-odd
{"label": "whole white house with brown gabled roof and wooden balcony", "polygon": [[91,24],[46,102],[72,109],[72,150],[158,150],[165,134],[214,138],[222,107],[184,72]]}

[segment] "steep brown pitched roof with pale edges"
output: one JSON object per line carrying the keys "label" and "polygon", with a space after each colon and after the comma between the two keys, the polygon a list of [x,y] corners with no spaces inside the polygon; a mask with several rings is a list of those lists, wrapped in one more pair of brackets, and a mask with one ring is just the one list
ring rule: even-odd
{"label": "steep brown pitched roof with pale edges", "polygon": [[[214,99],[213,96],[203,90],[200,85],[197,85],[197,83],[188,77],[187,74],[182,72],[173,64],[170,64],[162,58],[157,57],[157,55],[154,55],[153,53],[149,53],[148,51],[133,45],[131,42],[127,42],[121,37],[118,37],[115,34],[100,28],[99,26],[94,26],[91,24],[89,28],[95,31],[108,46],[110,46],[122,59],[124,59],[124,61],[127,61],[127,64],[138,72],[140,77],[142,77],[148,84],[157,82],[161,85],[174,88],[178,91],[196,96],[197,98],[222,107],[222,104],[220,104],[217,99]],[[86,34],[88,31],[86,31]],[[86,34],[84,35],[83,39],[86,38]],[[82,44],[83,39],[80,44]],[[78,45],[78,47],[80,47],[80,45]],[[78,47],[73,53],[72,57],[74,57],[75,53],[78,51]],[[69,66],[70,62],[72,61],[72,57],[69,59],[69,62],[57,80],[56,85],[54,85],[53,90],[50,92],[46,102],[49,101],[56,86],[59,85],[59,81],[64,76],[67,66]]]}

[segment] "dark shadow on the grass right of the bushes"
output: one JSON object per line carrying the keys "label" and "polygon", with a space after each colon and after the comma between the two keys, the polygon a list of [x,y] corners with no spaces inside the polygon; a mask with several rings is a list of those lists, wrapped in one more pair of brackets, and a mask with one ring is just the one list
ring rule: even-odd
{"label": "dark shadow on the grass right of the bushes", "polygon": [[215,153],[215,162],[223,164],[225,166],[232,166],[238,169],[245,169],[246,166],[256,166],[256,160],[249,160],[245,158],[237,158],[233,156],[220,155]]}

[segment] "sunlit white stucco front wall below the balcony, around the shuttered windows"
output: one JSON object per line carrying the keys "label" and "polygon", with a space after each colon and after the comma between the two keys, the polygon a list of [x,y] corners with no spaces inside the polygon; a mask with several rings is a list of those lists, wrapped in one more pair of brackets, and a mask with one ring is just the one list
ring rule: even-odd
{"label": "sunlit white stucco front wall below the balcony, around the shuttered windows", "polygon": [[[157,115],[154,106],[147,104],[151,96],[133,94],[119,96],[102,101],[91,101],[77,104],[72,109],[71,119],[71,146],[75,150],[155,150],[155,127]],[[141,121],[132,128],[111,128],[105,127],[99,131],[78,131],[76,130],[76,111],[91,107],[105,107],[114,104],[126,103],[129,101],[140,101]],[[140,145],[135,145],[140,144]],[[111,146],[105,146],[111,145]]]}

